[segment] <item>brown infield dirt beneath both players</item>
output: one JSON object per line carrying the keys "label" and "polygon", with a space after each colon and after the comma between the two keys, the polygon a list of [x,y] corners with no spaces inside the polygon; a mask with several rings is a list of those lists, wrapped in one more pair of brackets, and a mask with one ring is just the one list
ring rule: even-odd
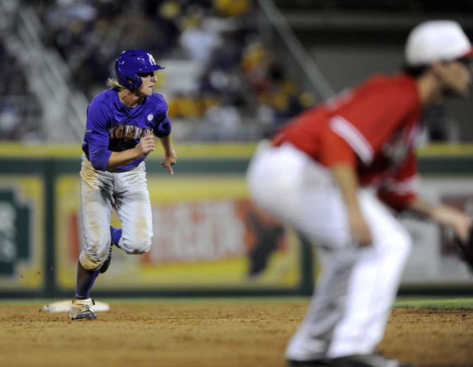
{"label": "brown infield dirt beneath both players", "polygon": [[[0,304],[0,366],[284,367],[306,299],[112,301],[97,321]],[[418,366],[473,366],[473,312],[394,309],[380,349]]]}

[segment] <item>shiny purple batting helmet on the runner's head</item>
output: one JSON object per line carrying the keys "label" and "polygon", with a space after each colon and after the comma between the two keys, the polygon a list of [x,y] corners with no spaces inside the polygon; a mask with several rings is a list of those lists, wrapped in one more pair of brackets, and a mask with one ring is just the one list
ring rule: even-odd
{"label": "shiny purple batting helmet on the runner's head", "polygon": [[143,82],[138,73],[164,69],[157,65],[155,58],[145,50],[126,50],[115,61],[115,74],[120,85],[137,89]]}

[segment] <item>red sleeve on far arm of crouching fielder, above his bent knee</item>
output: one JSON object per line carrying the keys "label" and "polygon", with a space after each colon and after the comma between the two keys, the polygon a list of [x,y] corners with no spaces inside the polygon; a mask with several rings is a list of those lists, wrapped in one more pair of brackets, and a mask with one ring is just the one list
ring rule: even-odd
{"label": "red sleeve on far arm of crouching fielder, above his bent knee", "polygon": [[378,189],[378,197],[396,211],[403,211],[417,197],[417,184],[417,161],[411,151],[393,178]]}

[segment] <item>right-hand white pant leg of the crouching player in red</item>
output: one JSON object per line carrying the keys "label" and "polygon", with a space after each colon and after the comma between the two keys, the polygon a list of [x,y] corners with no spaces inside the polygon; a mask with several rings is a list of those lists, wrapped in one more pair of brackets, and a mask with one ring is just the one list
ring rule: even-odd
{"label": "right-hand white pant leg of the crouching player in red", "polygon": [[359,201],[373,244],[359,249],[330,357],[370,354],[381,342],[411,249],[405,228],[373,194],[361,192]]}

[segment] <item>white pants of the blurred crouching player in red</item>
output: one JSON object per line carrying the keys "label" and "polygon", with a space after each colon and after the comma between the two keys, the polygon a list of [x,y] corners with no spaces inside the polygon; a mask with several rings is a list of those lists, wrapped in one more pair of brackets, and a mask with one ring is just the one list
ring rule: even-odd
{"label": "white pants of the blurred crouching player in red", "polygon": [[253,201],[318,247],[321,277],[287,359],[306,361],[373,352],[383,338],[411,239],[368,189],[359,204],[373,244],[357,247],[328,168],[291,144],[261,143],[247,173]]}

